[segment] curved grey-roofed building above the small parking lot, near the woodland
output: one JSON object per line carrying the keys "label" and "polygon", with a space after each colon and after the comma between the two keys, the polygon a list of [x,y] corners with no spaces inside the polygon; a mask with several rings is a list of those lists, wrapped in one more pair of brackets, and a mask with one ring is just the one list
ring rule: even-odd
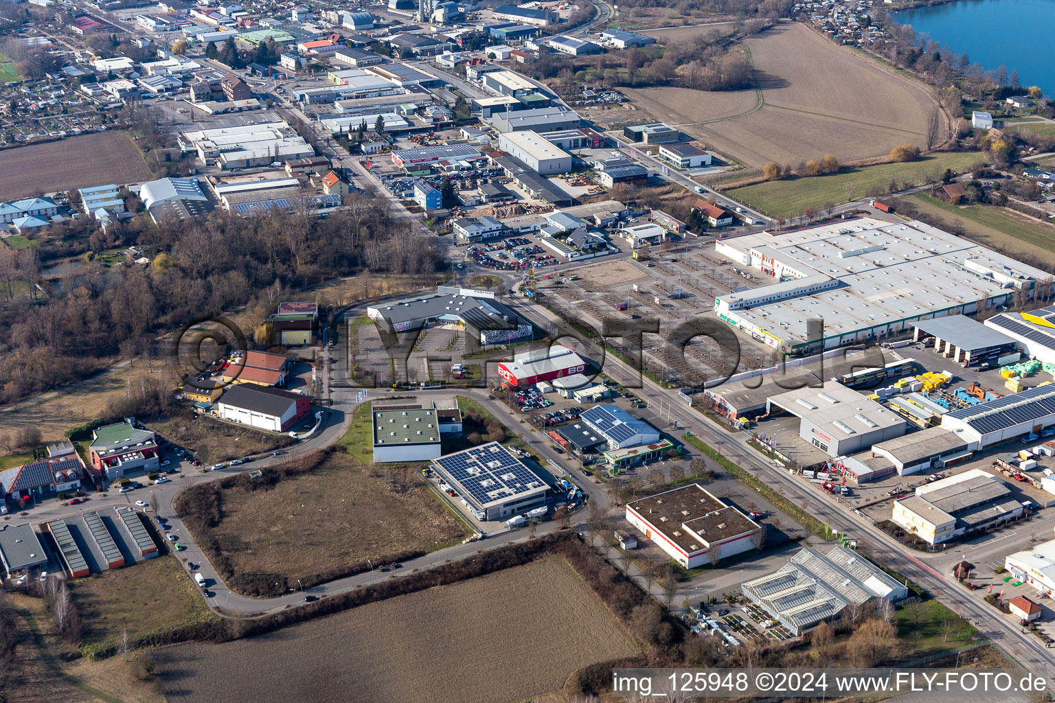
{"label": "curved grey-roofed building above the small parking lot, near the woodland", "polygon": [[436,293],[370,306],[366,314],[387,332],[455,326],[483,345],[524,341],[534,333],[532,324],[495,300],[494,293],[471,288],[439,286]]}

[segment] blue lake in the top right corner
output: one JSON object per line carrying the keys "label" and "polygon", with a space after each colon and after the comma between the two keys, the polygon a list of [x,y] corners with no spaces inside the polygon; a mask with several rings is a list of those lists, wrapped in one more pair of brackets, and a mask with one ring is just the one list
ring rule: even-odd
{"label": "blue lake in the top right corner", "polygon": [[966,53],[986,71],[1005,65],[1009,73],[1018,71],[1022,85],[1055,95],[1055,0],[957,0],[893,16],[957,54]]}

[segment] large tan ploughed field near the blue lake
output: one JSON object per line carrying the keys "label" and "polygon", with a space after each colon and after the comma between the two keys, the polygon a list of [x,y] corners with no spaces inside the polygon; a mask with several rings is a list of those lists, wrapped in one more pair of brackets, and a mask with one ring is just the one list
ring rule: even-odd
{"label": "large tan ploughed field near the blue lake", "polygon": [[923,86],[798,22],[782,22],[745,44],[761,101],[753,91],[664,87],[628,95],[636,94],[656,117],[748,167],[770,160],[798,164],[826,154],[847,161],[923,142],[934,106]]}

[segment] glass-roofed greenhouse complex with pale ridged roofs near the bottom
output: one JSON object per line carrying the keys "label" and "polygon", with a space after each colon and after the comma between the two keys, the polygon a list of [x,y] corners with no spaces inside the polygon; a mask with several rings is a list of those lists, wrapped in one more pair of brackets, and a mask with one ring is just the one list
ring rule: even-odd
{"label": "glass-roofed greenhouse complex with pale ridged roofs near the bottom", "polygon": [[808,632],[847,607],[876,598],[896,603],[908,597],[904,585],[846,547],[833,547],[827,554],[803,549],[776,571],[740,588],[792,634]]}

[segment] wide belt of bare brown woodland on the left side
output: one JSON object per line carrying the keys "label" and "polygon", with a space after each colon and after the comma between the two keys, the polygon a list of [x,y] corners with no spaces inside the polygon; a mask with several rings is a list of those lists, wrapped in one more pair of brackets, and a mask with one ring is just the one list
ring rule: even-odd
{"label": "wide belt of bare brown woodland on the left side", "polygon": [[[255,327],[290,288],[366,270],[436,270],[431,241],[396,220],[385,198],[356,194],[347,203],[323,220],[305,207],[145,227],[120,246],[152,252],[149,268],[91,261],[54,281],[43,279],[32,249],[0,248],[0,296],[9,298],[0,310],[7,331],[0,335],[0,402],[83,377],[192,318],[247,306]],[[37,285],[46,300],[36,299]]]}

